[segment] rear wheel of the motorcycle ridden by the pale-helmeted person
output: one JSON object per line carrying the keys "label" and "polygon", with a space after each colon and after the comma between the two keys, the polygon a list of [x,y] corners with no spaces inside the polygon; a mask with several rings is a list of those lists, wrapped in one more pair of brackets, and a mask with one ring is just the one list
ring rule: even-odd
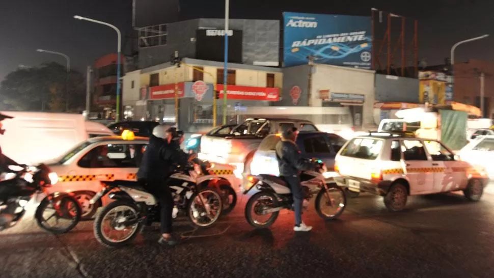
{"label": "rear wheel of the motorcycle ridden by the pale-helmeted person", "polygon": [[[117,212],[119,210],[125,210],[131,212],[133,215],[121,215],[120,218],[118,215],[112,220],[110,219],[111,213]],[[105,206],[101,212],[96,216],[96,219],[94,220],[94,236],[96,237],[96,240],[98,240],[101,245],[105,247],[122,247],[125,245],[128,245],[132,240],[135,239],[135,237],[139,234],[139,232],[143,228],[143,223],[139,221],[138,223],[132,225],[131,227],[127,226],[119,226],[119,221],[125,221],[128,220],[127,217],[138,217],[138,211],[139,208],[131,203],[131,202],[125,202],[125,201],[115,201],[107,206]],[[122,218],[123,217],[123,218]],[[110,220],[110,224],[114,231],[124,231],[127,229],[130,229],[130,233],[124,237],[123,239],[117,240],[117,239],[111,239],[109,238],[109,231],[108,233],[105,232],[103,222],[105,220]]]}

